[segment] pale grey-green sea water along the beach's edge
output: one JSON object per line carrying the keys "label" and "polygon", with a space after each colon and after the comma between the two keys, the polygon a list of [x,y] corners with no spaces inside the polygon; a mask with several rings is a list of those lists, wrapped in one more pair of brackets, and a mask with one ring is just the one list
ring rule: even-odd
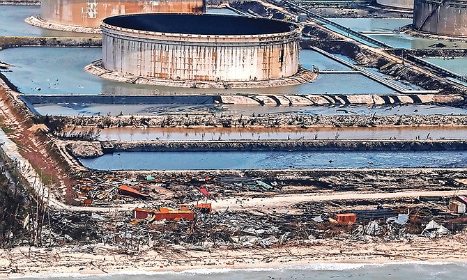
{"label": "pale grey-green sea water along the beach's edge", "polygon": [[[389,263],[389,264],[310,264],[277,267],[270,269],[213,269],[186,270],[183,272],[123,272],[121,274],[63,274],[47,277],[51,280],[86,279],[86,280],[256,280],[256,279],[423,279],[423,280],[464,280],[467,275],[467,263]],[[21,277],[37,279],[43,277]]]}

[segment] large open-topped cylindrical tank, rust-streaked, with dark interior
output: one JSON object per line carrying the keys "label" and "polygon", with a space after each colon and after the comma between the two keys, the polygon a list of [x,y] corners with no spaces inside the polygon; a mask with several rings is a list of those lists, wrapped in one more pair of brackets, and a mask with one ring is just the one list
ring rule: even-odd
{"label": "large open-topped cylindrical tank, rust-streaked, with dark interior", "polygon": [[140,77],[261,81],[298,71],[296,24],[228,15],[139,14],[102,23],[102,67]]}

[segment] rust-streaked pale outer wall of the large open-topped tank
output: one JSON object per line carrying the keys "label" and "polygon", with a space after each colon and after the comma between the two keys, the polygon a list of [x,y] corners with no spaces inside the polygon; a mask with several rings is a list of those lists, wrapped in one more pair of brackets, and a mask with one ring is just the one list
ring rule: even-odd
{"label": "rust-streaked pale outer wall of the large open-topped tank", "polygon": [[[207,15],[195,17],[199,17],[196,31],[204,33],[203,17]],[[231,18],[232,26],[239,26],[235,20],[239,17]],[[167,24],[171,25],[170,21]],[[298,71],[299,28],[281,33],[208,35],[125,29],[107,24],[107,20],[101,28],[102,66],[116,72],[171,80],[260,81]]]}

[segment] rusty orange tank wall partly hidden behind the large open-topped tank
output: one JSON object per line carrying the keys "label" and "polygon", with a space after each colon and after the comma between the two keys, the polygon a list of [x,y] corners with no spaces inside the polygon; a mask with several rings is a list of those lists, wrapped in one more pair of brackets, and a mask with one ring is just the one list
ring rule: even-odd
{"label": "rusty orange tank wall partly hidden behind the large open-topped tank", "polygon": [[91,28],[112,15],[204,12],[206,0],[42,0],[40,4],[40,17],[47,22]]}

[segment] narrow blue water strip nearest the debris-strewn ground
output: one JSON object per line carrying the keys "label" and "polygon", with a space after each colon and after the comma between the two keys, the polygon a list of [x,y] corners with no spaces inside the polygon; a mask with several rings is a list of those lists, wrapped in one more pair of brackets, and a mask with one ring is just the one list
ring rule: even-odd
{"label": "narrow blue water strip nearest the debris-strewn ground", "polygon": [[122,152],[81,162],[100,170],[464,168],[467,151]]}

